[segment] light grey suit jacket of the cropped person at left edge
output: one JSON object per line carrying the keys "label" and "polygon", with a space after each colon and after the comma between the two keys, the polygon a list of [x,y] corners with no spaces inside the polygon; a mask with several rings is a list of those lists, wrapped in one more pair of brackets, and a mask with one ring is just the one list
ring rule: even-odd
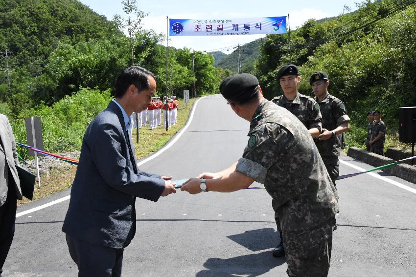
{"label": "light grey suit jacket of the cropped person at left edge", "polygon": [[[16,154],[16,142],[7,116],[0,114],[0,151],[4,152],[5,160],[0,159],[0,206],[6,202],[7,193],[16,193],[17,199],[22,199],[22,189],[20,188],[19,176],[15,164],[19,164]],[[3,147],[1,147],[1,145]],[[6,170],[10,170],[8,180],[5,178]],[[15,184],[16,192],[8,191],[8,182]]]}

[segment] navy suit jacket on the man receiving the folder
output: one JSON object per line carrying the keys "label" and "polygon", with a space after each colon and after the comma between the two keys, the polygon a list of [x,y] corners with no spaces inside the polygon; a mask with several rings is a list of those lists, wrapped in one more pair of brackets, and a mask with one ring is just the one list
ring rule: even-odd
{"label": "navy suit jacket on the man receiving the folder", "polygon": [[83,241],[124,248],[136,232],[136,197],[157,201],[165,182],[137,169],[134,148],[114,102],[87,128],[62,231]]}

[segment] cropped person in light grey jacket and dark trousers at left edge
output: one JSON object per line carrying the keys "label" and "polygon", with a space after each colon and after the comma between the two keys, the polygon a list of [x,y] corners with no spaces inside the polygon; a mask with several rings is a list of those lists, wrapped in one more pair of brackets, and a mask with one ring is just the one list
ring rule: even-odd
{"label": "cropped person in light grey jacket and dark trousers at left edge", "polygon": [[16,142],[9,120],[0,114],[0,277],[15,233],[17,199],[22,199]]}

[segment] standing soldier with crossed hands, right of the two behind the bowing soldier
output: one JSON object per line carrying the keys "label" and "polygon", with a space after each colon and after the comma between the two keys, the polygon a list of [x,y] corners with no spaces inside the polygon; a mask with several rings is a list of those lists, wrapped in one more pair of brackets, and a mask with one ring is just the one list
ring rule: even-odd
{"label": "standing soldier with crossed hands, right of the two behind the bowing soldier", "polygon": [[315,94],[322,114],[322,134],[314,139],[326,170],[335,185],[340,175],[338,156],[341,150],[340,135],[349,129],[349,117],[344,103],[328,93],[329,80],[324,72],[314,72],[309,84]]}

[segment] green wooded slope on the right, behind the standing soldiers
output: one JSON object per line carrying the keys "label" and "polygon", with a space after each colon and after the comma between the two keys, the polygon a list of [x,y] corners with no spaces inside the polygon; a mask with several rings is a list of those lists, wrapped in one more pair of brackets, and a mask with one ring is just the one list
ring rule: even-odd
{"label": "green wooded slope on the right, behind the standing soldiers", "polygon": [[289,37],[267,35],[254,75],[267,98],[282,94],[277,70],[292,62],[300,66],[299,91],[313,96],[309,76],[328,74],[331,94],[346,103],[352,119],[350,146],[365,141],[367,111],[380,109],[389,137],[397,144],[398,108],[416,106],[415,0],[359,3],[359,9],[329,21],[309,20]]}

